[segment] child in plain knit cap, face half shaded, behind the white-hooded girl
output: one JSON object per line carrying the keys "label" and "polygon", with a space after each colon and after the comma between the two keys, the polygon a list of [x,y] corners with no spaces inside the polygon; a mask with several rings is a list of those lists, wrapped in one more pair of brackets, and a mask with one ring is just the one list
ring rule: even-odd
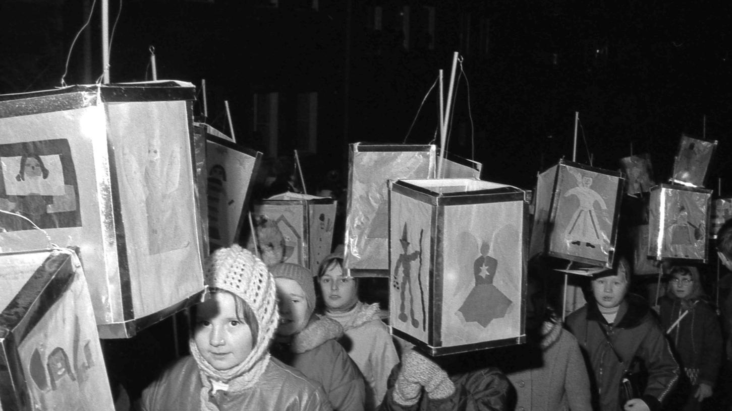
{"label": "child in plain knit cap, face half shaded, behind the white-hooded girl", "polygon": [[313,314],[315,286],[310,271],[291,263],[272,265],[270,271],[280,303],[280,326],[272,355],[320,382],[335,410],[363,410],[363,377],[336,342],[343,336],[343,327]]}

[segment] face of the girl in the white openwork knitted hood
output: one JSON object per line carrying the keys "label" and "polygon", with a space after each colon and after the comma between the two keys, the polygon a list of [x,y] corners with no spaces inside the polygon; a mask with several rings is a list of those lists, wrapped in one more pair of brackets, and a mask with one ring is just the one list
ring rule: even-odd
{"label": "face of the girl in the white openwork knitted hood", "polygon": [[196,308],[193,338],[201,356],[219,371],[244,362],[252,351],[252,331],[237,317],[234,295],[213,293]]}

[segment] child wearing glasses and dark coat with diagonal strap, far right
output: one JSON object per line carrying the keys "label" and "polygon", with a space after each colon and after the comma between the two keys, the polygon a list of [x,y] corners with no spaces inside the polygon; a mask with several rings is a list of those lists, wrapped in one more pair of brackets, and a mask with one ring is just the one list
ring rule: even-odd
{"label": "child wearing glasses and dark coat with diagonal strap, far right", "polygon": [[678,410],[699,410],[712,396],[722,361],[722,332],[717,314],[702,299],[703,289],[696,268],[671,268],[668,291],[660,301],[661,325],[676,348],[686,372],[686,390],[679,392]]}

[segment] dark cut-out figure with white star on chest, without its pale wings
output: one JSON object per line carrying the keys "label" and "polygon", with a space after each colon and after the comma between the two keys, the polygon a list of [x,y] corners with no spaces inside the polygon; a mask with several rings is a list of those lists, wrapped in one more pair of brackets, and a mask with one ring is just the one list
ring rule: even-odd
{"label": "dark cut-out figure with white star on chest, without its pale wings", "polygon": [[483,328],[488,327],[491,321],[503,318],[512,301],[501,293],[493,279],[496,277],[498,260],[488,255],[490,246],[483,241],[480,254],[473,263],[475,287],[468,294],[458,311],[463,314],[467,323],[478,323]]}

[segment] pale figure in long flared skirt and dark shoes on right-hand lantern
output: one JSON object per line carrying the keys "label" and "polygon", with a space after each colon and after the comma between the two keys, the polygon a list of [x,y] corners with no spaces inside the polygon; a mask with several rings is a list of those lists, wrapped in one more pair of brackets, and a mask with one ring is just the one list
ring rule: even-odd
{"label": "pale figure in long flared skirt and dark shoes on right-hand lantern", "polygon": [[607,210],[605,200],[602,200],[596,191],[590,188],[592,185],[591,177],[583,177],[580,173],[572,173],[577,178],[575,188],[567,190],[564,197],[576,195],[580,201],[580,206],[572,215],[567,231],[564,233],[569,244],[585,246],[594,249],[602,244],[602,235],[600,233],[600,225],[597,220],[597,211],[594,203],[600,203],[602,210]]}

